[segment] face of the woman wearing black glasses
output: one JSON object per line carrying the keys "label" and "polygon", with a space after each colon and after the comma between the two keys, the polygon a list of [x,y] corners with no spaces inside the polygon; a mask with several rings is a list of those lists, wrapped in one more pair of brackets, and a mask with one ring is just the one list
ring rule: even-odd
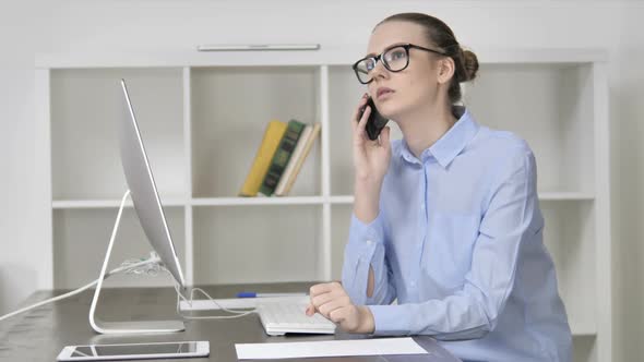
{"label": "face of the woman wearing black glasses", "polygon": [[[407,43],[436,49],[427,40],[420,25],[392,21],[375,27],[367,53],[380,55],[392,45]],[[372,70],[373,81],[368,85],[378,110],[389,119],[398,120],[409,111],[434,101],[439,85],[437,59],[437,55],[412,48],[409,65],[403,71],[391,72],[379,61]],[[391,92],[383,92],[387,88]]]}

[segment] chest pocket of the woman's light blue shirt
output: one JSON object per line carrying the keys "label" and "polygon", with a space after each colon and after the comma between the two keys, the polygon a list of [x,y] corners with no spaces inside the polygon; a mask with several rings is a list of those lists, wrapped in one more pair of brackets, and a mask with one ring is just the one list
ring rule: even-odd
{"label": "chest pocket of the woman's light blue shirt", "polygon": [[480,216],[474,213],[436,210],[430,215],[421,265],[425,277],[439,290],[463,287],[479,226]]}

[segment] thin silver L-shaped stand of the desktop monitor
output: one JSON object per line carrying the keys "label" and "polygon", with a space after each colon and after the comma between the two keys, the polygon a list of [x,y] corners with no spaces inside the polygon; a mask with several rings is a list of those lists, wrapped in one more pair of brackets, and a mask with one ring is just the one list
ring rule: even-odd
{"label": "thin silver L-shaped stand of the desktop monitor", "polygon": [[103,322],[95,316],[96,304],[98,303],[98,297],[100,295],[100,288],[103,287],[103,280],[105,279],[105,273],[107,270],[107,264],[109,263],[109,256],[111,254],[111,248],[119,229],[121,221],[121,214],[126,201],[130,196],[130,190],[126,192],[121,200],[121,206],[111,231],[111,238],[107,245],[107,253],[103,267],[100,268],[100,276],[98,277],[98,283],[94,292],[94,299],[92,300],[92,307],[90,309],[90,325],[92,328],[99,334],[154,334],[154,333],[175,333],[186,330],[186,325],[182,321],[140,321],[140,322]]}

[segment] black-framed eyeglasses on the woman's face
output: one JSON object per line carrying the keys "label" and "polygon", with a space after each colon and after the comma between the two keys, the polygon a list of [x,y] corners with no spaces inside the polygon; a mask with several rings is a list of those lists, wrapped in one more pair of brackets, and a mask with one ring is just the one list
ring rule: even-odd
{"label": "black-framed eyeglasses on the woman's face", "polygon": [[420,47],[414,44],[397,44],[384,49],[379,56],[366,57],[354,63],[351,67],[358,81],[362,84],[369,84],[373,81],[371,71],[375,68],[375,63],[382,60],[382,64],[390,72],[399,72],[409,65],[409,49],[419,49],[433,52],[441,56],[448,56],[445,52]]}

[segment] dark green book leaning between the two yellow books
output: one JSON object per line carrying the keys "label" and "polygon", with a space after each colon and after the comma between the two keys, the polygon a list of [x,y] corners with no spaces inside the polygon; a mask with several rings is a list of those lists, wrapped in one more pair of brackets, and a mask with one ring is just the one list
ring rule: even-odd
{"label": "dark green book leaning between the two yellow books", "polygon": [[286,132],[282,136],[279,141],[279,146],[275,150],[273,155],[273,159],[271,160],[271,166],[269,166],[269,171],[264,177],[262,185],[260,186],[260,193],[271,196],[275,192],[275,188],[288,165],[288,160],[295,150],[297,142],[305,130],[306,124],[297,121],[290,120],[288,121],[288,125],[286,126]]}

